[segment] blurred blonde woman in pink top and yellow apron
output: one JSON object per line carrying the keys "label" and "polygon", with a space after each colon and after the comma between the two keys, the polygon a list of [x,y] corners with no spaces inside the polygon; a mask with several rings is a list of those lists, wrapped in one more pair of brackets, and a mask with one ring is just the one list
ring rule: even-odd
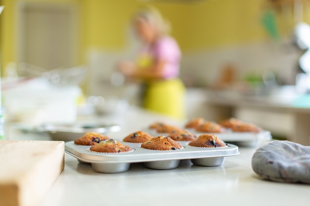
{"label": "blurred blonde woman in pink top and yellow apron", "polygon": [[184,118],[185,87],[178,78],[181,51],[177,42],[168,36],[167,24],[153,7],[139,11],[133,24],[143,46],[135,62],[119,64],[120,71],[145,84],[144,108]]}

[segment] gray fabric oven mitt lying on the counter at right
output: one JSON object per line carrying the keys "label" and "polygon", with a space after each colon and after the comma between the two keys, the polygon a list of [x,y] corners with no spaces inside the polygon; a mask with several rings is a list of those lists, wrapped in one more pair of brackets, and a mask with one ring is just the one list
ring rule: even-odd
{"label": "gray fabric oven mitt lying on the counter at right", "polygon": [[264,179],[310,183],[310,147],[289,141],[273,141],[257,149],[252,168]]}

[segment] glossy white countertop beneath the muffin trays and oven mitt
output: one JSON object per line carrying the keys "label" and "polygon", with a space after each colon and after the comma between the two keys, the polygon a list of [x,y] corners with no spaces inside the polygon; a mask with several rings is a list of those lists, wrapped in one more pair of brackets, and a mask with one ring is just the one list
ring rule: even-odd
{"label": "glossy white countertop beneath the muffin trays and oven mitt", "polygon": [[[123,116],[123,130],[110,137],[121,139],[154,121],[173,120],[132,108]],[[49,140],[45,134],[10,131],[10,139]],[[263,144],[263,143],[262,143]],[[256,148],[239,148],[221,166],[205,167],[181,161],[176,169],[155,170],[141,163],[123,173],[98,173],[65,154],[64,170],[40,206],[306,206],[310,186],[262,180],[251,167]]]}

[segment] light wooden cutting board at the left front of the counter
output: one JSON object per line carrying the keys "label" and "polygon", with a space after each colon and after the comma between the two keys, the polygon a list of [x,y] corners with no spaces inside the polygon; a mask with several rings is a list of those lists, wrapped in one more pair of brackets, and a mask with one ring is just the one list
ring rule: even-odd
{"label": "light wooden cutting board at the left front of the counter", "polygon": [[63,167],[63,141],[0,141],[0,206],[38,206]]}

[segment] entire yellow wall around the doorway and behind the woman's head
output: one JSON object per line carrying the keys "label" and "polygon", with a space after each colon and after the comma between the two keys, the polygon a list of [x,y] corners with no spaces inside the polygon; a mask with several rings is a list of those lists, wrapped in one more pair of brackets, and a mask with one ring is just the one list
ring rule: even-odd
{"label": "entire yellow wall around the doorway and behind the woman's head", "polygon": [[[85,54],[92,48],[125,48],[130,17],[139,6],[145,4],[142,0],[0,0],[5,5],[0,16],[2,69],[8,62],[16,61],[15,9],[20,1],[74,3],[78,7],[78,63],[86,62]],[[183,52],[268,38],[261,24],[265,0],[149,2],[170,21],[172,36],[179,42]],[[309,7],[307,11],[310,11]],[[310,22],[310,12],[304,13],[306,21]],[[287,31],[288,23],[280,14],[277,18],[283,34]]]}

